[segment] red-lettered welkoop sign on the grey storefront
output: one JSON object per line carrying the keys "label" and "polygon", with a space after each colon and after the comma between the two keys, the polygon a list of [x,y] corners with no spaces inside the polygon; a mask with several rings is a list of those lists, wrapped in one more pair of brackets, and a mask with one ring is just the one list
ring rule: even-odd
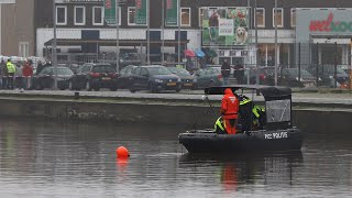
{"label": "red-lettered welkoop sign on the grey storefront", "polygon": [[310,32],[352,32],[352,21],[334,21],[330,12],[326,20],[312,20],[309,24]]}

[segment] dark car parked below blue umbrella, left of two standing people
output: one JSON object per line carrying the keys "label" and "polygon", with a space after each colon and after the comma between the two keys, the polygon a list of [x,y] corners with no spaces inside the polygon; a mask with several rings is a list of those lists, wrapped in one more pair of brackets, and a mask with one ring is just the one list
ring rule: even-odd
{"label": "dark car parked below blue umbrella, left of two standing people", "polygon": [[193,75],[197,79],[198,88],[222,85],[221,67],[206,67]]}

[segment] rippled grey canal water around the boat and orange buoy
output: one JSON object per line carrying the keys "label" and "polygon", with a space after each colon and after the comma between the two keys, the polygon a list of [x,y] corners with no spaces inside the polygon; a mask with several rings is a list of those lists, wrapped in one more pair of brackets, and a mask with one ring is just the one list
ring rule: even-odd
{"label": "rippled grey canal water around the boat and orange buoy", "polygon": [[0,196],[352,196],[349,133],[307,132],[296,153],[190,156],[177,141],[185,130],[1,119]]}

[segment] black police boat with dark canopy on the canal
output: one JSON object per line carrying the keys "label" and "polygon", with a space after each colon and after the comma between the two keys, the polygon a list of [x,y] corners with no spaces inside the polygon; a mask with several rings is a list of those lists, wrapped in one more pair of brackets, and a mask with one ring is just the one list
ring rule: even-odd
{"label": "black police boat with dark canopy on the canal", "polygon": [[[243,107],[240,106],[237,134],[221,134],[216,129],[190,130],[180,133],[178,135],[179,143],[189,153],[300,151],[302,132],[293,124],[290,88],[251,85],[210,87],[205,89],[205,97],[223,95],[226,88],[231,88],[237,96],[240,96],[239,92],[252,91],[253,100],[255,95],[263,96],[265,123],[261,123],[260,128],[255,127],[254,118],[241,114],[241,108]],[[210,101],[209,105],[211,106]],[[243,127],[245,122],[243,120],[245,119],[251,119],[249,128]]]}

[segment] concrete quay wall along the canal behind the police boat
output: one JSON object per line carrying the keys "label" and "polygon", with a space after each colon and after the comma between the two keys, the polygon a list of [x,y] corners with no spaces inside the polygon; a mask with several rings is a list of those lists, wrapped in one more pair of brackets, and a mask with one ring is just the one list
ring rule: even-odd
{"label": "concrete quay wall along the canal behind the police boat", "polygon": [[[211,128],[219,102],[198,99],[0,96],[0,117],[51,119],[61,122],[177,124],[185,129]],[[294,124],[309,131],[345,132],[351,129],[350,103],[294,102]],[[350,130],[348,130],[350,131]]]}

